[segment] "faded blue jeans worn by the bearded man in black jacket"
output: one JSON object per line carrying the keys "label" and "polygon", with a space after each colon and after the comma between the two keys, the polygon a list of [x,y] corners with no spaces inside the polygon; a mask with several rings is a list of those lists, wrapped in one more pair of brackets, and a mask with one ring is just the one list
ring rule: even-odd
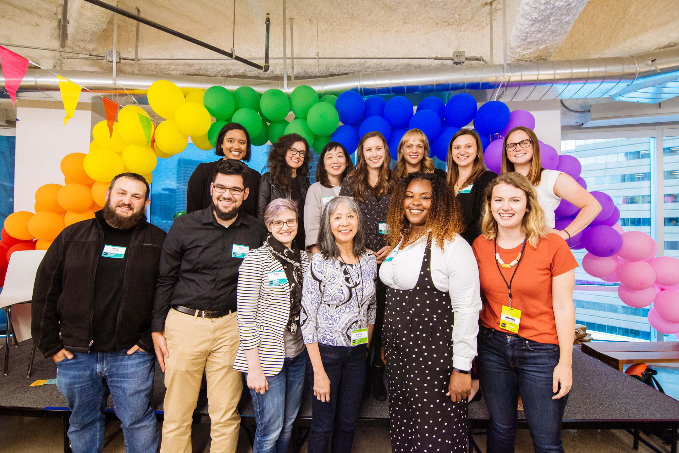
{"label": "faded blue jeans worn by the bearded man in black jacket", "polygon": [[56,364],[56,386],[69,403],[73,453],[104,450],[104,409],[113,397],[127,453],[155,453],[158,424],[151,407],[155,354],[138,350],[75,352]]}

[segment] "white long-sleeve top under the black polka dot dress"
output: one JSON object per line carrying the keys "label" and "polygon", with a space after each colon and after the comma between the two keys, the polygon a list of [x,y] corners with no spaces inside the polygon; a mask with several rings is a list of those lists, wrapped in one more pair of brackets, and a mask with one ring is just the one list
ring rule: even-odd
{"label": "white long-sleeve top under the black polka dot dress", "polygon": [[[382,283],[393,289],[413,289],[418,283],[426,237],[399,250],[401,243],[388,255],[380,267]],[[449,293],[455,313],[453,322],[453,366],[471,369],[476,357],[476,336],[479,333],[479,268],[471,246],[460,236],[445,241],[443,250],[433,240],[431,246],[431,276],[439,291]],[[424,271],[424,269],[423,269]]]}

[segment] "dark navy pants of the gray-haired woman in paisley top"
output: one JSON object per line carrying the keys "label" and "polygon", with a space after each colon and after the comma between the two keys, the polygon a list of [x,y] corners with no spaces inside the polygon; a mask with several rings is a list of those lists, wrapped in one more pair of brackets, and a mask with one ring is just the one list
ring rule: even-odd
{"label": "dark navy pants of the gray-haired woman in paisley top", "polygon": [[[350,453],[359,420],[365,384],[365,346],[328,346],[318,343],[320,359],[330,380],[330,401],[313,397],[308,453]],[[313,378],[313,367],[308,365]],[[313,379],[312,379],[313,381]]]}

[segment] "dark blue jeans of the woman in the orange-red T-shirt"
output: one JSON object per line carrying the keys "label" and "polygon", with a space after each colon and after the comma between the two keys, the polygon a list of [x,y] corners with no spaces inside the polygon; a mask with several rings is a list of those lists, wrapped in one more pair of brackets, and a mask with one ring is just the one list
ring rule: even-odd
{"label": "dark blue jeans of the woman in the orange-red T-shirt", "polygon": [[476,367],[490,413],[489,453],[514,451],[517,427],[517,390],[524,401],[526,421],[536,453],[564,452],[561,422],[568,395],[551,399],[559,345],[526,340],[481,326]]}

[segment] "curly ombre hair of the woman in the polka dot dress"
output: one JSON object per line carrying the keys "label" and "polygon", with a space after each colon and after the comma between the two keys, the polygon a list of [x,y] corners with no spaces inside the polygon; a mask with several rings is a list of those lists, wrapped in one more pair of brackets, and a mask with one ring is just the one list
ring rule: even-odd
{"label": "curly ombre hair of the woman in the polka dot dress", "polygon": [[415,180],[429,181],[431,184],[431,208],[424,229],[431,230],[432,235],[429,240],[433,242],[436,239],[437,245],[443,250],[445,240],[452,241],[456,233],[461,234],[464,231],[464,223],[462,223],[460,205],[452,189],[443,178],[434,173],[410,173],[394,189],[386,215],[389,228],[386,242],[390,247],[396,247],[402,239],[410,238],[411,225],[405,217],[403,201],[408,185]]}

